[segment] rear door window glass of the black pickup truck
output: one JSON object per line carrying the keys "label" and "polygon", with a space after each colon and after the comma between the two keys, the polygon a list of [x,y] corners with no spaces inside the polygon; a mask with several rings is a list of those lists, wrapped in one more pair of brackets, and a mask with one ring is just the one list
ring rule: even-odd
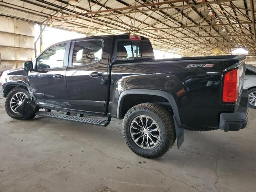
{"label": "rear door window glass of the black pickup truck", "polygon": [[75,42],[72,65],[88,65],[101,60],[102,45],[101,40]]}

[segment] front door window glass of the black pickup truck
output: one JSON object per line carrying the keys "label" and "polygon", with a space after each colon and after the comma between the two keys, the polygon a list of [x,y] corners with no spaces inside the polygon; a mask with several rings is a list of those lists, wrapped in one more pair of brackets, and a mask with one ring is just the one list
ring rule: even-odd
{"label": "front door window glass of the black pickup truck", "polygon": [[36,62],[37,69],[63,67],[66,44],[53,46],[43,52]]}

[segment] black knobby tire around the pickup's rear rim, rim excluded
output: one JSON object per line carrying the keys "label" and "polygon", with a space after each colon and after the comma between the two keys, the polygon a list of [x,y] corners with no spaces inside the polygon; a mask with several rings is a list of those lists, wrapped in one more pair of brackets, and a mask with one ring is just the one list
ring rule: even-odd
{"label": "black knobby tire around the pickup's rear rim, rim excluded", "polygon": [[[146,115],[153,118],[161,130],[160,141],[155,148],[142,149],[135,144],[131,138],[130,125],[132,120],[140,115]],[[128,110],[123,119],[122,131],[124,140],[130,150],[139,156],[149,159],[158,158],[164,155],[174,145],[176,140],[172,115],[170,112],[168,112],[168,110],[154,103],[138,104]]]}

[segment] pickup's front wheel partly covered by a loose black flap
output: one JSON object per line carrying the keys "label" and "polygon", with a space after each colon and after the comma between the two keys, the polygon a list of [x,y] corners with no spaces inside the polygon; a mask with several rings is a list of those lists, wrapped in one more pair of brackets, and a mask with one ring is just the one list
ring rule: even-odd
{"label": "pickup's front wheel partly covered by a loose black flap", "polygon": [[5,110],[8,116],[14,119],[18,120],[26,120],[26,119],[32,119],[35,117],[35,114],[30,114],[29,116],[22,116],[22,114],[16,112],[16,108],[22,104],[22,102],[29,98],[29,93],[26,89],[21,87],[13,88],[8,95],[6,96],[5,100]]}

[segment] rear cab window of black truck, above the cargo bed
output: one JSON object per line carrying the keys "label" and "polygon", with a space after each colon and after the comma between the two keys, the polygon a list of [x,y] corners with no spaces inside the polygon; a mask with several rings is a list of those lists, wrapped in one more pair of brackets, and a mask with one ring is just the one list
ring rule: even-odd
{"label": "rear cab window of black truck, above the cargo bed", "polygon": [[135,60],[154,58],[152,45],[149,41],[118,41],[116,60]]}

